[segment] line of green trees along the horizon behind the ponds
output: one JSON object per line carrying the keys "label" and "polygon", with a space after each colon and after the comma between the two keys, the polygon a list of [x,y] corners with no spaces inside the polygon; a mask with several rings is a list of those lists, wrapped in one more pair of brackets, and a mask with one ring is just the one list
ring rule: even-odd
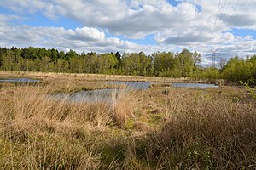
{"label": "line of green trees along the horizon behind the ponds", "polygon": [[183,49],[180,53],[156,52],[151,55],[119,52],[77,54],[55,48],[0,48],[0,69],[3,71],[42,71],[119,74],[155,77],[191,77],[229,82],[246,81],[256,77],[256,56],[239,59],[237,56],[220,69],[200,65],[201,54]]}

